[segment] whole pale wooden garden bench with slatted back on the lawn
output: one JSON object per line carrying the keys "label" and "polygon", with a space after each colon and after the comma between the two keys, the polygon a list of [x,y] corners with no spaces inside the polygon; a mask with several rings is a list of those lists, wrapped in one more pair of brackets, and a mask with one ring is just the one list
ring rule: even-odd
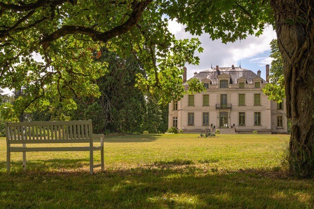
{"label": "whole pale wooden garden bench with slatted back on the lawn", "polygon": [[[46,151],[89,151],[90,173],[95,167],[104,171],[104,134],[93,134],[92,120],[87,121],[45,121],[5,123],[6,170],[10,171],[11,153],[23,152],[23,168],[26,171],[26,152]],[[94,147],[93,138],[100,138],[100,146]],[[26,147],[26,144],[89,143],[79,147]],[[23,147],[11,146],[22,144]],[[101,152],[101,164],[94,165],[93,152]]]}

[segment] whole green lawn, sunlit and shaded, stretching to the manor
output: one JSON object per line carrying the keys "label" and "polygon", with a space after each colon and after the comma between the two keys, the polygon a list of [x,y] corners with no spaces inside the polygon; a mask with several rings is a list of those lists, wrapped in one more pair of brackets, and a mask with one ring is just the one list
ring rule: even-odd
{"label": "whole green lawn, sunlit and shaded, stretching to the manor", "polygon": [[314,181],[289,178],[280,166],[288,138],[106,137],[105,172],[95,169],[94,175],[88,152],[27,153],[26,173],[22,154],[14,153],[7,174],[2,138],[0,207],[313,208]]}

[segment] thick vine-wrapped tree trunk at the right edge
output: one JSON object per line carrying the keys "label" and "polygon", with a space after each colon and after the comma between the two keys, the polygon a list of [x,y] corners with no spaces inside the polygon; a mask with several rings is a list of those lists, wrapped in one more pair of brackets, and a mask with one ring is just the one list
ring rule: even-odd
{"label": "thick vine-wrapped tree trunk at the right edge", "polygon": [[314,176],[314,0],[270,0],[284,62],[287,116],[291,118],[289,169]]}

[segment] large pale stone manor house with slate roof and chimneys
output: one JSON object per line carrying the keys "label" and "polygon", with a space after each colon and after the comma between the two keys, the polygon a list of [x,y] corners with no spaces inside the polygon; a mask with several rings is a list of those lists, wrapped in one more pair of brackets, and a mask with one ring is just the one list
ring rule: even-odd
{"label": "large pale stone manor house with slate roof and chimneys", "polygon": [[[205,92],[186,94],[169,104],[169,128],[201,133],[211,124],[221,133],[286,133],[287,117],[284,103],[268,100],[262,87],[269,81],[261,71],[255,74],[241,67],[209,68],[194,77],[204,83]],[[183,85],[186,82],[184,67]]]}

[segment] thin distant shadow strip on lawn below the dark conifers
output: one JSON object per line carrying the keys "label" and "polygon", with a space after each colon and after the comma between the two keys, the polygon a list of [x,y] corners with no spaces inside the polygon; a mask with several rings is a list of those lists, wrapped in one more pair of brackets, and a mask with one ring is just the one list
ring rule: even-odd
{"label": "thin distant shadow strip on lawn below the dark conifers", "polygon": [[107,143],[126,143],[126,142],[152,142],[156,141],[161,134],[132,134],[122,136],[108,136],[104,138]]}

